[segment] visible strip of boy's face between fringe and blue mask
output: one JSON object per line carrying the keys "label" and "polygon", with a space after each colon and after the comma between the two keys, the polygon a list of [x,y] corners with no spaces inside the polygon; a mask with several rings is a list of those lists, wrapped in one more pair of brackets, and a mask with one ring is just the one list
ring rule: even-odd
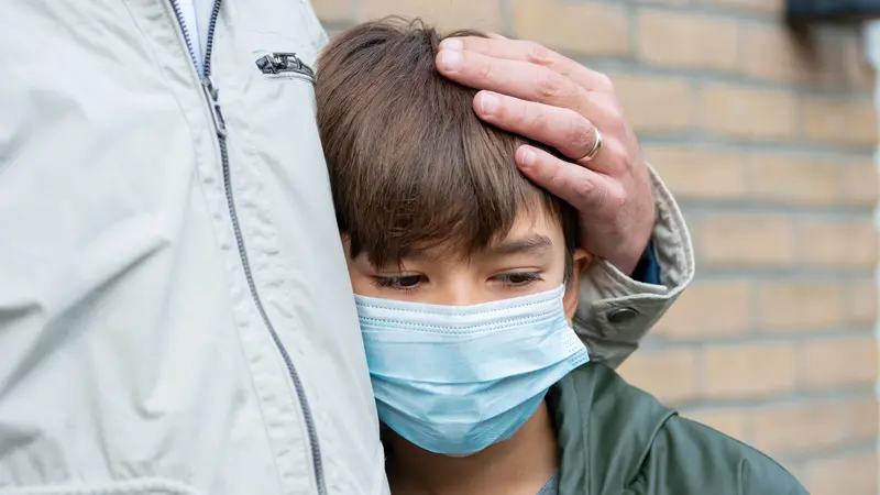
{"label": "visible strip of boy's face between fringe and blue mask", "polygon": [[[537,210],[537,211],[531,211]],[[373,266],[365,253],[348,256],[352,288],[360,296],[446,306],[469,306],[559,287],[565,275],[562,227],[540,209],[520,209],[506,238],[470,256],[427,249],[389,266]],[[578,275],[587,255],[574,253],[574,279],[565,294],[571,319]]]}

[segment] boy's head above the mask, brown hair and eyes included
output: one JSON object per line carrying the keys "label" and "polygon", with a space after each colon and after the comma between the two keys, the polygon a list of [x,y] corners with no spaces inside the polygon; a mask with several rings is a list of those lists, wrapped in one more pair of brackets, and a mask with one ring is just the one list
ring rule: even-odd
{"label": "boy's head above the mask, brown hair and eyes included", "polygon": [[[482,36],[452,35],[462,34]],[[514,162],[519,145],[541,145],[476,117],[476,91],[435,67],[442,40],[418,21],[371,22],[318,62],[318,124],[354,292],[464,306],[576,285],[588,255],[575,249],[574,210]],[[571,318],[576,288],[568,293]]]}

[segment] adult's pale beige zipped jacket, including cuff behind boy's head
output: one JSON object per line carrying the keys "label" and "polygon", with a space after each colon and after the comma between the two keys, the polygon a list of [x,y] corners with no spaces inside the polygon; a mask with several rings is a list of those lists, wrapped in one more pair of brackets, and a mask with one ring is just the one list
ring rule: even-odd
{"label": "adult's pale beige zipped jacket, including cuff behind boy's head", "polygon": [[[174,0],[2,2],[0,495],[387,492],[295,63],[324,32],[304,0],[197,4],[210,78]],[[609,362],[693,271],[656,186],[668,286],[584,280]]]}

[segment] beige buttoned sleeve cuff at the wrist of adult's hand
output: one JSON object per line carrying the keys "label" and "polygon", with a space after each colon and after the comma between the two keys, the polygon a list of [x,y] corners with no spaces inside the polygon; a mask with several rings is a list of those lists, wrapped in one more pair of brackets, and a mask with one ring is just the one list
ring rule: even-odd
{"label": "beige buttoned sleeve cuff at the wrist of adult's hand", "polygon": [[637,348],[694,275],[691,235],[672,194],[648,167],[657,206],[651,243],[661,285],[637,282],[598,260],[581,277],[574,330],[593,361],[616,369]]}

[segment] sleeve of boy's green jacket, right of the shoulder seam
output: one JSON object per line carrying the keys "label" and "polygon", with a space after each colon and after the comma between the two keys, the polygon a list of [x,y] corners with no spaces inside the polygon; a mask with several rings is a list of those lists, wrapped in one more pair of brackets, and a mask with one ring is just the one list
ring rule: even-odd
{"label": "sleeve of boy's green jacket, right of the shoulder seam", "polygon": [[658,432],[630,490],[680,495],[809,495],[772,459],[679,416],[669,418]]}

